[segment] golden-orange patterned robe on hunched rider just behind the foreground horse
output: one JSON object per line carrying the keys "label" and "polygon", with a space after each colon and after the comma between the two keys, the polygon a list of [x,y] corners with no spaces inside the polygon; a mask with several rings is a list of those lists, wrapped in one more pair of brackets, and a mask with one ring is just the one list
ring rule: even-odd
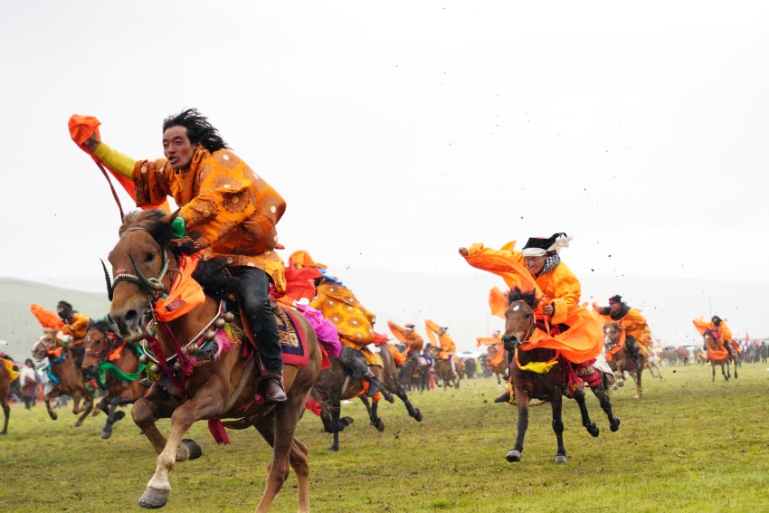
{"label": "golden-orange patterned robe on hunched rider just behind the foreground horse", "polygon": [[376,317],[360,304],[352,290],[321,280],[309,306],[334,323],[342,345],[360,350],[374,342]]}

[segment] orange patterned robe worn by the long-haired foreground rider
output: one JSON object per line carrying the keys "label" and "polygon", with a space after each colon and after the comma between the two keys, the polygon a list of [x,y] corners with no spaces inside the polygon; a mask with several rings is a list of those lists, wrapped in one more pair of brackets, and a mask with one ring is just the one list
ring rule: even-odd
{"label": "orange patterned robe worn by the long-haired foreground rider", "polygon": [[137,206],[162,204],[171,196],[181,207],[185,233],[201,244],[203,258],[224,257],[231,265],[270,275],[276,292],[286,288],[275,225],[286,202],[228,149],[195,150],[186,169],[165,158],[141,160],[133,170]]}

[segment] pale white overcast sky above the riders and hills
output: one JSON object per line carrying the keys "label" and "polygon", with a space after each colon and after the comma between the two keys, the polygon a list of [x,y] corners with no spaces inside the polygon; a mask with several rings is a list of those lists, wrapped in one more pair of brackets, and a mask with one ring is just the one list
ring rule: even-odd
{"label": "pale white overcast sky above the riders and hills", "polygon": [[711,301],[765,311],[767,26],[763,2],[6,2],[0,276],[100,280],[119,213],[71,114],[140,159],[195,107],[287,200],[283,256],[343,279],[566,232],[586,296],[723,280]]}

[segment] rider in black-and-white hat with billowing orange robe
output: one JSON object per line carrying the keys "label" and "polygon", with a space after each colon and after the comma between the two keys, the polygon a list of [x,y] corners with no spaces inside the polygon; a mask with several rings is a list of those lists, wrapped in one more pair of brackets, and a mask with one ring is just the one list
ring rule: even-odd
{"label": "rider in black-and-white hat with billowing orange robe", "polygon": [[[603,331],[597,318],[579,304],[580,282],[561,261],[559,252],[569,241],[571,237],[565,233],[531,237],[521,252],[514,250],[515,241],[499,250],[475,243],[460,248],[460,255],[473,267],[498,274],[510,287],[523,282],[527,290],[536,289],[541,298],[532,336],[537,339],[536,346],[557,349],[577,366],[580,377],[593,377],[593,361],[601,354]],[[505,391],[495,402],[505,402],[509,396]]]}

